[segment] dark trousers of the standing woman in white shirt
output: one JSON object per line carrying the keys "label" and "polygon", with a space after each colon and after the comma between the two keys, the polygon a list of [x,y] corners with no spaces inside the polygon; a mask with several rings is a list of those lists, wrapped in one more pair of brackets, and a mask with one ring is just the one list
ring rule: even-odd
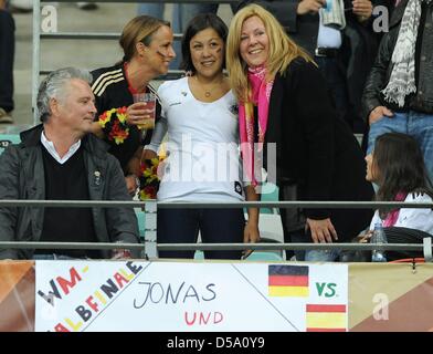
{"label": "dark trousers of the standing woman in white shirt", "polygon": [[[242,209],[159,209],[158,243],[242,243],[245,219]],[[159,251],[160,258],[192,259],[194,251]],[[242,251],[204,251],[207,259],[241,259]]]}

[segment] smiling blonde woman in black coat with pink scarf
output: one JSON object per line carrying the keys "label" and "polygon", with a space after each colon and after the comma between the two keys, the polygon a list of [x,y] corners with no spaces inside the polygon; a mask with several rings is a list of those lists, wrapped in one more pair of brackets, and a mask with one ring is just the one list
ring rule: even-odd
{"label": "smiling blonde woman in black coat with pink scarf", "polygon": [[[235,13],[226,61],[232,90],[240,101],[249,200],[260,199],[254,187],[262,180],[262,165],[268,173],[275,167],[276,176],[271,180],[279,187],[279,200],[371,200],[373,190],[365,180],[363,154],[347,124],[338,118],[323,75],[268,11],[250,4]],[[263,146],[263,163],[254,143]],[[276,160],[266,156],[268,143],[276,144]],[[281,215],[285,242],[332,243],[358,235],[372,212],[282,209]],[[257,217],[250,219],[249,227],[255,230],[257,221]],[[308,251],[306,260],[332,261],[338,256],[336,250]]]}

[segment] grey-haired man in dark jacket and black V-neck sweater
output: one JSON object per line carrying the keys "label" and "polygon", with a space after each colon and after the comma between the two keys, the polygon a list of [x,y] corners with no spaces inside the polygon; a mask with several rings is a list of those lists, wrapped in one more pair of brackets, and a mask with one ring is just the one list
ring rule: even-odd
{"label": "grey-haired man in dark jacket and black V-neck sweater", "polygon": [[[92,134],[88,72],[67,67],[41,83],[42,124],[0,156],[0,199],[127,200],[118,162]],[[139,242],[131,208],[0,208],[1,241]],[[34,254],[34,256],[33,256]],[[0,250],[6,259],[109,258],[93,250]]]}

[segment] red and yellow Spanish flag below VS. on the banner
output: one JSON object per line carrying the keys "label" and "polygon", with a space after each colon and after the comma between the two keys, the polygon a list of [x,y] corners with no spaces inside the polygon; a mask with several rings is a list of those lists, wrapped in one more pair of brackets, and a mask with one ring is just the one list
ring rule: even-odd
{"label": "red and yellow Spanish flag below VS. on the banner", "polygon": [[346,332],[346,305],[307,304],[307,332]]}

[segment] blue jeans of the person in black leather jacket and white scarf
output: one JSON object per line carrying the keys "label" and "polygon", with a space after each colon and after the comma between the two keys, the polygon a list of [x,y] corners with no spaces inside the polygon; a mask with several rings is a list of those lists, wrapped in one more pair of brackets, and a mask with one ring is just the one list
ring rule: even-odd
{"label": "blue jeans of the person in black leather jacket and white scarf", "polygon": [[374,148],[376,138],[384,133],[404,133],[412,135],[420,144],[424,155],[429,177],[433,178],[433,115],[414,111],[398,113],[392,117],[382,117],[371,124],[368,136],[367,154]]}

